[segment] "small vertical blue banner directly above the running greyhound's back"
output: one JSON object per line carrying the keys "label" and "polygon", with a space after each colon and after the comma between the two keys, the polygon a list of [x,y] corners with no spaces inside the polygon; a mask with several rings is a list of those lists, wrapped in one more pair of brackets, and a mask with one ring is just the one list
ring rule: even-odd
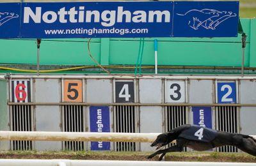
{"label": "small vertical blue banner directly above the running greyhound's back", "polygon": [[212,108],[211,107],[192,107],[193,124],[204,128],[212,128]]}

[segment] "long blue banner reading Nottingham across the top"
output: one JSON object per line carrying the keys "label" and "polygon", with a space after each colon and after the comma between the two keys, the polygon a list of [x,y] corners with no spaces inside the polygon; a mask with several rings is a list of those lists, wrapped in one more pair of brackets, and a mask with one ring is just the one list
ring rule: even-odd
{"label": "long blue banner reading Nottingham across the top", "polygon": [[0,38],[236,37],[239,2],[0,3]]}

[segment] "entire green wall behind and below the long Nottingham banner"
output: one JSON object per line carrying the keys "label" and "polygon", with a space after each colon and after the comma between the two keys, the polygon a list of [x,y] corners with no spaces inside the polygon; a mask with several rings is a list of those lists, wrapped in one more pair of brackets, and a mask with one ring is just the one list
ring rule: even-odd
{"label": "entire green wall behind and below the long Nottingham banner", "polygon": [[[256,67],[256,19],[241,20],[248,35],[245,66]],[[241,34],[237,38],[157,38],[159,65],[241,66]],[[94,65],[88,39],[42,40],[40,64]],[[35,40],[0,40],[0,63],[36,64]],[[92,56],[103,65],[136,64],[140,38],[92,39]],[[144,65],[154,64],[154,38],[145,38]]]}

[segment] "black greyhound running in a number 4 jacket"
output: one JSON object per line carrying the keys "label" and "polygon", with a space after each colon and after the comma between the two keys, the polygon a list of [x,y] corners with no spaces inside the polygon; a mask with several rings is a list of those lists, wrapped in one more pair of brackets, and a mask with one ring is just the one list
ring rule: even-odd
{"label": "black greyhound running in a number 4 jacket", "polygon": [[176,140],[177,144],[166,149],[160,149],[148,156],[148,159],[160,155],[161,161],[169,152],[182,151],[183,147],[189,147],[195,151],[207,151],[214,147],[236,146],[242,151],[256,156],[256,138],[239,133],[228,133],[192,124],[184,124],[174,128],[170,132],[161,133],[150,146],[160,147]]}

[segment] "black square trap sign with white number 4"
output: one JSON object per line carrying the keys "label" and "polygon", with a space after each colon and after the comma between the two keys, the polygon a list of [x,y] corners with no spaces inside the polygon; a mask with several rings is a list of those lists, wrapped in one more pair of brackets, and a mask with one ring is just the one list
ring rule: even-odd
{"label": "black square trap sign with white number 4", "polygon": [[116,103],[134,103],[134,83],[115,82]]}

